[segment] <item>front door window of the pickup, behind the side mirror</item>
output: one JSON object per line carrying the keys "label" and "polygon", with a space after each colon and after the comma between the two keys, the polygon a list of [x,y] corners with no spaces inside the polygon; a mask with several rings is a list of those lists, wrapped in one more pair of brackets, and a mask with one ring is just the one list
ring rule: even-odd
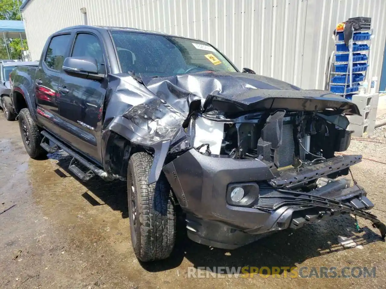
{"label": "front door window of the pickup, behind the side mirror", "polygon": [[76,35],[71,57],[91,57],[97,60],[98,73],[106,74],[105,59],[99,40],[95,35],[80,33]]}

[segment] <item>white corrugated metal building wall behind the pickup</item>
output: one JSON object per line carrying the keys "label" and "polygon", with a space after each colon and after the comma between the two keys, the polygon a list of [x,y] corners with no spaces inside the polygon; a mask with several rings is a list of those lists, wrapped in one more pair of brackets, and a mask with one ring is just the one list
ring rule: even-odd
{"label": "white corrugated metal building wall behind the pickup", "polygon": [[32,60],[46,38],[85,24],[156,30],[205,40],[239,68],[303,89],[324,89],[333,30],[349,17],[371,17],[367,80],[381,77],[385,0],[25,0],[22,16]]}

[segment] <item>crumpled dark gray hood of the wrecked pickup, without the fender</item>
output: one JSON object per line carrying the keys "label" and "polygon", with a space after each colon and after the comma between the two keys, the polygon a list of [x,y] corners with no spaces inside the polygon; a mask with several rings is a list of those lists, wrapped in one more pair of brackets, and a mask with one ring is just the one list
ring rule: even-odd
{"label": "crumpled dark gray hood of the wrecked pickup, without the fender", "polygon": [[[204,113],[231,115],[244,111],[335,110],[336,114],[359,114],[355,104],[322,90],[301,90],[287,82],[241,72],[201,72],[171,77],[142,78],[144,85],[165,101],[179,99],[182,111],[200,99]],[[167,100],[168,99],[168,100]],[[181,103],[181,100],[183,100]]]}

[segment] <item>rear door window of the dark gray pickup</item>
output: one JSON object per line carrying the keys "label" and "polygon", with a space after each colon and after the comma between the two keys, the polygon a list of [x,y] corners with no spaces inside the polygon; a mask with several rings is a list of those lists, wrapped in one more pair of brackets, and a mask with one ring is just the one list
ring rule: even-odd
{"label": "rear door window of the dark gray pickup", "polygon": [[62,69],[64,55],[66,54],[70,37],[70,34],[52,37],[51,42],[48,45],[46,57],[44,58],[44,62],[51,69]]}

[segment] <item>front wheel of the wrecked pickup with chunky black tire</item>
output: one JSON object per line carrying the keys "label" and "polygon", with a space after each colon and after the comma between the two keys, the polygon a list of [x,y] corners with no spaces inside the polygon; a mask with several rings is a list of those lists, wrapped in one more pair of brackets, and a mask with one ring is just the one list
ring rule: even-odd
{"label": "front wheel of the wrecked pickup with chunky black tire", "polygon": [[151,155],[134,153],[127,170],[130,236],[135,256],[142,262],[169,257],[176,239],[174,199],[166,177],[147,184]]}

